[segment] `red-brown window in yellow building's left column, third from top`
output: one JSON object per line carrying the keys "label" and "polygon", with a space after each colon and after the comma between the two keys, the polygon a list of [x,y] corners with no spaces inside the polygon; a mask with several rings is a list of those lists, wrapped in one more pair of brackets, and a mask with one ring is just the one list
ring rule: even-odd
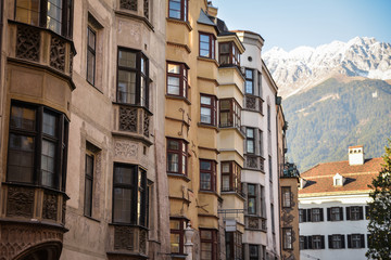
{"label": "red-brown window in yellow building's left column, third from top", "polygon": [[187,143],[180,139],[167,139],[167,172],[187,176]]}

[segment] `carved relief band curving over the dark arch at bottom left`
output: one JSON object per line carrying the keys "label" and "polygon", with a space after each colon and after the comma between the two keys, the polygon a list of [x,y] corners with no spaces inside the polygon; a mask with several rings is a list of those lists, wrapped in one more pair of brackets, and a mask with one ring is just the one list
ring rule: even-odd
{"label": "carved relief band curving over the dark arch at bottom left", "polygon": [[[61,251],[62,230],[24,224],[2,224],[0,237],[0,260],[14,259],[17,255],[33,246],[51,242]],[[53,244],[54,243],[54,244]]]}

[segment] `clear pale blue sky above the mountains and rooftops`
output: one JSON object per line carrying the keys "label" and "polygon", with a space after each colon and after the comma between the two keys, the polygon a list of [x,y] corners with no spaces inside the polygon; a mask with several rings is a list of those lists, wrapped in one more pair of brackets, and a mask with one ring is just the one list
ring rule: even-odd
{"label": "clear pale blue sky above the mountains and rooftops", "polygon": [[356,36],[391,43],[391,0],[213,0],[228,29],[252,30],[263,51],[317,47]]}

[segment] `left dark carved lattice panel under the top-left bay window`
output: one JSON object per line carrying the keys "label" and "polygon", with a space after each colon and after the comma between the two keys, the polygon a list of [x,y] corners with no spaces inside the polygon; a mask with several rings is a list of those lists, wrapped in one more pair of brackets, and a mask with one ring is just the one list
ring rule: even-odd
{"label": "left dark carved lattice panel under the top-left bay window", "polygon": [[39,62],[40,34],[34,27],[17,26],[16,57]]}

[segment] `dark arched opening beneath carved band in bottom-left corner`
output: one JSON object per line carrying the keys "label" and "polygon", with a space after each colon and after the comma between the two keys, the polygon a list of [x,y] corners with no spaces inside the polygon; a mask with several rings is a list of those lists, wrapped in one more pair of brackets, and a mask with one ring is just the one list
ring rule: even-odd
{"label": "dark arched opening beneath carved band in bottom-left corner", "polygon": [[26,249],[13,260],[59,260],[61,250],[61,243],[43,243]]}

